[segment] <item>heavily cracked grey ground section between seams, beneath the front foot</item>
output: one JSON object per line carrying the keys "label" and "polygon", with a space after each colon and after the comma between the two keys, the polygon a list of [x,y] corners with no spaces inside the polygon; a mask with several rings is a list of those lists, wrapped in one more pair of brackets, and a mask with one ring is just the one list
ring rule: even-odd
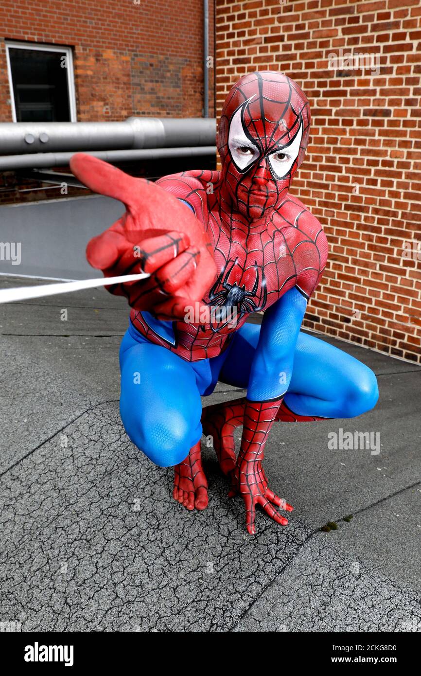
{"label": "heavily cracked grey ground section between seams, beneath the front foot", "polygon": [[172,469],[139,453],[116,404],[95,405],[64,427],[66,447],[43,443],[3,476],[3,614],[24,631],[220,631],[305,531],[262,521],[251,538],[220,476],[207,510],[187,512]]}

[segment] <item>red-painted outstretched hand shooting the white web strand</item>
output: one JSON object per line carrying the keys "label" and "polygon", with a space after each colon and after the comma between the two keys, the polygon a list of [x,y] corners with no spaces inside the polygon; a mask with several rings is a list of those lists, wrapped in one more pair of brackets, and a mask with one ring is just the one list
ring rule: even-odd
{"label": "red-painted outstretched hand shooting the white web strand", "polygon": [[132,308],[162,319],[184,318],[212,285],[216,265],[203,224],[174,195],[92,155],[76,153],[70,168],[95,193],[119,199],[126,212],[86,247],[105,277],[148,272],[149,279],[107,287]]}

